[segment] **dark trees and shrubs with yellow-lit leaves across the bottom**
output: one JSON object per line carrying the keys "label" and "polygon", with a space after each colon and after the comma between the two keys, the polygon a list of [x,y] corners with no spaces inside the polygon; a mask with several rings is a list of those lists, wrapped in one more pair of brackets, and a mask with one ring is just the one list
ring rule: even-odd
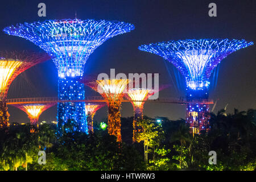
{"label": "dark trees and shrubs with yellow-lit leaves across the bottom", "polygon": [[[253,171],[256,168],[256,110],[212,113],[210,131],[194,137],[183,119],[161,118],[159,125],[144,118],[138,122],[143,128],[137,136],[141,143],[134,144],[131,144],[132,117],[122,118],[125,126],[122,135],[129,133],[130,139],[125,141],[130,144],[117,142],[106,130],[95,129],[89,135],[70,132],[72,122],[63,127],[67,130],[61,137],[56,137],[54,125],[40,125],[31,133],[31,125],[13,123],[0,129],[0,170]],[[45,165],[38,164],[40,150],[46,151]],[[209,164],[209,151],[216,151],[217,164]]]}

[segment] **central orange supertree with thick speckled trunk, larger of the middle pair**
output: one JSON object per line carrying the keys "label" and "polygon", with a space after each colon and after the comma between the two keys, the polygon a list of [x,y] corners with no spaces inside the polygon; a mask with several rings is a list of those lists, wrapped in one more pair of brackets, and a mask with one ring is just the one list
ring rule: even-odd
{"label": "central orange supertree with thick speckled trunk, larger of the middle pair", "polygon": [[117,142],[122,141],[121,137],[121,103],[123,90],[129,84],[128,79],[96,80],[86,82],[86,85],[96,90],[104,97],[108,104],[108,133],[117,137]]}

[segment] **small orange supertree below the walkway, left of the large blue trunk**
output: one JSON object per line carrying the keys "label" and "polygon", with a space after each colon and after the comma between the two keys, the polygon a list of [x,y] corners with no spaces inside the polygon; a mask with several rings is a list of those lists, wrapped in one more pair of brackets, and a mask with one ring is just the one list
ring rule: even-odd
{"label": "small orange supertree below the walkway, left of the large blue trunk", "polygon": [[23,110],[27,113],[30,123],[38,127],[38,119],[43,111],[49,109],[49,107],[54,106],[56,103],[48,104],[13,104],[14,107],[17,107],[20,110]]}

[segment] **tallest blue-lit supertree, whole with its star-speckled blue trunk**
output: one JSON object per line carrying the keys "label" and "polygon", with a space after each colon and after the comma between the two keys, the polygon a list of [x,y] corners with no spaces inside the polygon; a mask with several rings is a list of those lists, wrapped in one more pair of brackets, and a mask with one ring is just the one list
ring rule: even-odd
{"label": "tallest blue-lit supertree, whole with its star-speckled blue trunk", "polygon": [[[28,39],[51,55],[59,74],[60,100],[84,100],[84,85],[79,80],[89,55],[106,40],[133,29],[133,24],[124,22],[65,19],[16,24],[3,31]],[[88,131],[83,102],[58,104],[60,135],[68,120],[76,123],[73,130]]]}

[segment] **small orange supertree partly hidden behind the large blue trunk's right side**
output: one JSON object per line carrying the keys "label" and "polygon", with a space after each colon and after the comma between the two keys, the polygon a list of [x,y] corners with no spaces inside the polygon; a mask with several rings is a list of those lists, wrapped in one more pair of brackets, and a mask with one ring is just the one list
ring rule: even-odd
{"label": "small orange supertree partly hidden behind the large blue trunk's right side", "polygon": [[85,114],[86,114],[86,121],[87,127],[90,134],[93,134],[93,117],[97,110],[103,107],[105,104],[93,104],[88,103],[85,104]]}

